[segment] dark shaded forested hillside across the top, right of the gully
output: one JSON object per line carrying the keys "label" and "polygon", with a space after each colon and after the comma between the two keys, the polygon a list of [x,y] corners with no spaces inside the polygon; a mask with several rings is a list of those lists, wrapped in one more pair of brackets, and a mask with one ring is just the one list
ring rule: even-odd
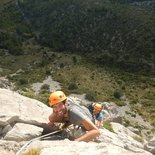
{"label": "dark shaded forested hillside across the top, right of the gully", "polygon": [[45,46],[80,53],[100,65],[154,73],[155,14],[133,3],[22,0],[20,7]]}

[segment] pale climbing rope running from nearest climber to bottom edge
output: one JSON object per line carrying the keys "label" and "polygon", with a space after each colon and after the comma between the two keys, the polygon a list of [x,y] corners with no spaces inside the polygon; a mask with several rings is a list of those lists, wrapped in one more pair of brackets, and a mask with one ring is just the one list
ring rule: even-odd
{"label": "pale climbing rope running from nearest climber to bottom edge", "polygon": [[32,142],[36,141],[36,140],[41,140],[45,137],[48,137],[48,136],[51,136],[51,135],[54,135],[56,133],[59,133],[61,132],[62,130],[57,130],[57,131],[54,131],[54,132],[51,132],[51,133],[48,133],[46,135],[42,135],[40,137],[37,137],[37,138],[34,138],[30,141],[28,141],[23,147],[20,148],[20,150],[16,153],[16,155],[22,155],[22,152],[24,151],[24,149],[26,149]]}

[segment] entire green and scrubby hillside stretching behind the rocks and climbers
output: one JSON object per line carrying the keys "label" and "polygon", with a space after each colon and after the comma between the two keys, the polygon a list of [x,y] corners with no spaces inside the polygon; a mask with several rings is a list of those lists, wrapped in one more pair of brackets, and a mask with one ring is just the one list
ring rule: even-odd
{"label": "entire green and scrubby hillside stretching behind the rocks and climbers", "polygon": [[32,84],[51,76],[67,94],[129,103],[126,115],[138,113],[155,125],[155,17],[133,3],[1,0],[0,77],[48,104],[50,86],[36,95]]}

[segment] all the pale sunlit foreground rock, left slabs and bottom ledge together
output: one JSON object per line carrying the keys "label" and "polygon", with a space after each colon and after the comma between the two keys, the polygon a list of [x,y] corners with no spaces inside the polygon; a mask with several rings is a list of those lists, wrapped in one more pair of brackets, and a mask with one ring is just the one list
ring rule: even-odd
{"label": "all the pale sunlit foreground rock, left slabs and bottom ledge together", "polygon": [[[7,89],[0,89],[0,107],[0,155],[15,155],[30,139],[41,136],[43,123],[48,122],[52,112],[52,109],[43,103]],[[118,123],[112,123],[112,127],[115,133],[101,129],[100,137],[93,142],[75,142],[68,139],[36,140],[23,151],[39,148],[41,155],[152,154],[145,151],[144,145],[134,139],[138,135]],[[149,145],[154,147],[151,142],[154,142],[154,139],[148,143],[147,148]]]}

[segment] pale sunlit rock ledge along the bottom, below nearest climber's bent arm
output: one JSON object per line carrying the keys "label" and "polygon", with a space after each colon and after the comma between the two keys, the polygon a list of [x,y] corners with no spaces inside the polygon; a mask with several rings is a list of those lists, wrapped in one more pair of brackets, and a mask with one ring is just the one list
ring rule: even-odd
{"label": "pale sunlit rock ledge along the bottom, below nearest climber's bent arm", "polygon": [[[118,124],[118,123],[117,123]],[[143,149],[140,142],[132,138],[121,137],[106,129],[101,129],[101,136],[94,142],[75,142],[67,139],[60,141],[35,141],[31,143],[27,151],[31,148],[40,149],[41,155],[58,154],[93,154],[93,155],[151,155]]]}

